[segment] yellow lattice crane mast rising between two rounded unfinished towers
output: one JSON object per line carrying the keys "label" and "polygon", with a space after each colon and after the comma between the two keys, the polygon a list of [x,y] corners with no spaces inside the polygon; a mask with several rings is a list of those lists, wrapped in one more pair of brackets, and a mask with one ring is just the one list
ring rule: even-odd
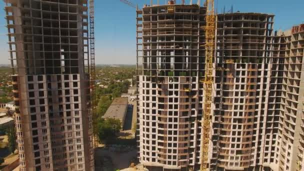
{"label": "yellow lattice crane mast rising between two rounded unfinished towers", "polygon": [[208,142],[211,122],[212,83],[213,83],[213,56],[215,47],[215,14],[214,0],[206,0],[206,26],[205,28],[205,78],[203,115],[201,120],[200,138],[200,170],[208,169]]}

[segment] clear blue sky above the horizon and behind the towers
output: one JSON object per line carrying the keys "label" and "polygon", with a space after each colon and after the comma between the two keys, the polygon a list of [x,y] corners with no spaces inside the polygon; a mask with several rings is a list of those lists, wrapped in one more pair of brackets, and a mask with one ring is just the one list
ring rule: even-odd
{"label": "clear blue sky above the horizon and behind the towers", "polygon": [[[142,7],[150,0],[131,0]],[[164,3],[167,0],[159,0]],[[176,0],[177,3],[180,0]],[[202,0],[201,0],[202,1]],[[153,0],[156,3],[157,0]],[[189,0],[185,0],[186,3]],[[193,3],[196,0],[193,0]],[[201,2],[202,3],[202,2]],[[216,0],[215,7],[221,12],[225,6],[240,12],[275,14],[274,28],[288,29],[304,23],[304,0]],[[0,0],[0,63],[8,63],[7,36],[5,33],[4,2]],[[135,59],[135,9],[120,0],[95,0],[96,63],[133,64]]]}

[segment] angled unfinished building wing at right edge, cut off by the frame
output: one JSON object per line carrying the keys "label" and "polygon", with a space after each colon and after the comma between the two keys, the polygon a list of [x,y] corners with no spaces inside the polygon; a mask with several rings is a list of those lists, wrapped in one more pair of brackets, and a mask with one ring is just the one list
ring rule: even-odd
{"label": "angled unfinished building wing at right edge, cut off by the frame", "polygon": [[304,24],[273,36],[272,43],[270,88],[277,135],[269,165],[272,170],[304,170]]}

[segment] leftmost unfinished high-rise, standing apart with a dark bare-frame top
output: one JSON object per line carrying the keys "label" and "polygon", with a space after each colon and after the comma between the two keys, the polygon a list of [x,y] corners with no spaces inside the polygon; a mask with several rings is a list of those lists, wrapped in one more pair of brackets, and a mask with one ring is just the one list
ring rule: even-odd
{"label": "leftmost unfinished high-rise, standing apart with a dark bare-frame top", "polygon": [[94,170],[87,0],[5,0],[20,170]]}

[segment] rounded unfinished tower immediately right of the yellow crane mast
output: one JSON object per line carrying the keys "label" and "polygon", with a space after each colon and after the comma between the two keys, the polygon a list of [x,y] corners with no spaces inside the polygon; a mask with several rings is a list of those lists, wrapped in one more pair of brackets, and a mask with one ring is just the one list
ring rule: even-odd
{"label": "rounded unfinished tower immediately right of the yellow crane mast", "polygon": [[267,112],[273,15],[218,14],[216,25],[210,167],[256,168],[271,159],[278,125]]}

